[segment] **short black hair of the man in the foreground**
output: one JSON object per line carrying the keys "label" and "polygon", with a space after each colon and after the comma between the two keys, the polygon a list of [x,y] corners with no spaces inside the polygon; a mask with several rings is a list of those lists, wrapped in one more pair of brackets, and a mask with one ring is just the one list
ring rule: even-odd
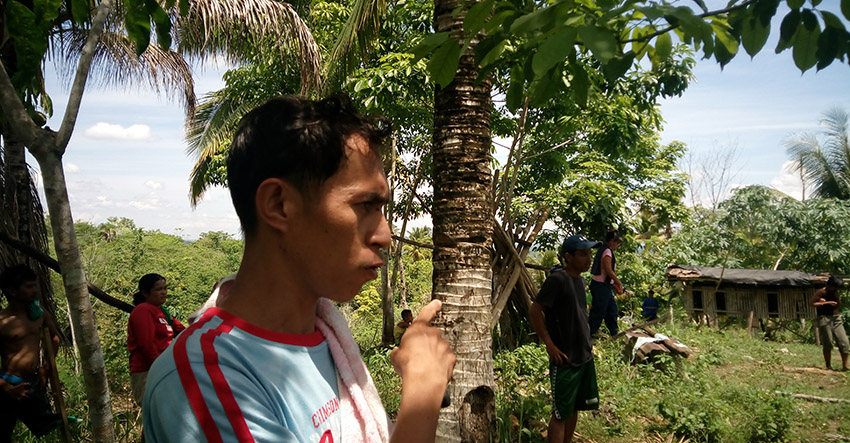
{"label": "short black hair of the man in the foreground", "polygon": [[242,232],[256,231],[255,197],[264,180],[282,178],[312,196],[342,166],[346,138],[359,134],[380,155],[389,131],[385,119],[364,117],[344,95],[320,101],[282,96],[246,114],[227,155],[227,184]]}

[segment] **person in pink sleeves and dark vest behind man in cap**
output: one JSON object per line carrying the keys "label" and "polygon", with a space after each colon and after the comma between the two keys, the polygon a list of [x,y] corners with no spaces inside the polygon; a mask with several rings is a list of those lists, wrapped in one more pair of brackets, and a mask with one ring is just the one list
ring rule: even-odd
{"label": "person in pink sleeves and dark vest behind man in cap", "polygon": [[596,251],[593,266],[590,268],[590,273],[593,274],[593,279],[590,282],[590,295],[593,298],[590,307],[590,333],[592,335],[596,335],[599,331],[603,319],[605,326],[608,327],[608,334],[613,336],[619,332],[617,326],[619,308],[617,307],[617,300],[614,299],[614,291],[617,294],[622,294],[623,284],[617,277],[617,259],[614,256],[614,251],[620,247],[622,242],[623,237],[616,229],[608,230],[605,235],[605,243]]}

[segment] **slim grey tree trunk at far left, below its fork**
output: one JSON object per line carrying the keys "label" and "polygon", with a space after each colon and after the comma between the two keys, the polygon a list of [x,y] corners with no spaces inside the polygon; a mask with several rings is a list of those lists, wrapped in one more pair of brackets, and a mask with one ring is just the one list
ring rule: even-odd
{"label": "slim grey tree trunk at far left, below its fork", "polygon": [[62,269],[62,281],[71,314],[71,327],[77,338],[83,363],[83,379],[86,385],[92,437],[95,442],[112,442],[115,441],[115,436],[112,429],[109,384],[106,379],[106,367],[103,362],[100,337],[97,333],[97,323],[92,311],[91,299],[88,296],[86,275],[80,260],[71,205],[68,202],[62,156],[54,150],[47,150],[40,152],[36,160],[41,167],[44,179],[44,193],[50,212],[50,224],[53,227],[56,257]]}

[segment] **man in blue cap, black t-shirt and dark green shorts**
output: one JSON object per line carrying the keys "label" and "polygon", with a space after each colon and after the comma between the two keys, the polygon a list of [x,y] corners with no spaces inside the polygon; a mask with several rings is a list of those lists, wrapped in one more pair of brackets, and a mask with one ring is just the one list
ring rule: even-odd
{"label": "man in blue cap, black t-shirt and dark green shorts", "polygon": [[587,293],[581,274],[590,269],[590,248],[601,245],[582,235],[567,237],[560,250],[564,268],[549,274],[531,304],[531,324],[549,354],[550,443],[572,441],[578,411],[599,407]]}

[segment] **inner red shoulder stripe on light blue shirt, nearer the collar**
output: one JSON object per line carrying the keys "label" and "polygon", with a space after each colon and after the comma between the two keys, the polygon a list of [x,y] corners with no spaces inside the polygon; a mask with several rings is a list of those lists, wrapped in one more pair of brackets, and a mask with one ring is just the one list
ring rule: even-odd
{"label": "inner red shoulder stripe on light blue shirt, nearer the collar", "polygon": [[213,342],[216,337],[221,334],[227,334],[233,326],[227,322],[222,323],[215,329],[210,329],[201,336],[201,352],[204,354],[204,367],[207,368],[207,374],[212,380],[213,388],[224,408],[224,414],[230,421],[230,426],[233,427],[233,432],[240,442],[253,443],[254,437],[248,429],[248,423],[245,422],[245,416],[242,415],[242,410],[239,409],[239,404],[236,403],[236,397],[233,396],[233,391],[230,385],[227,384],[227,379],[218,365],[218,353],[215,351]]}

